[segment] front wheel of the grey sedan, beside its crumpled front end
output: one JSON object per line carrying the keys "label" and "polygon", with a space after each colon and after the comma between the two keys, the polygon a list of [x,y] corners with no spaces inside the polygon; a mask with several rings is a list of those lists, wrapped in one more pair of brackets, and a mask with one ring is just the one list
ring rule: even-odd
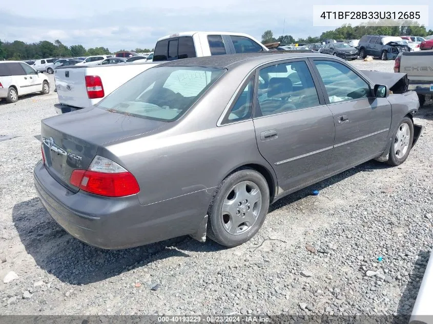
{"label": "front wheel of the grey sedan, beside its crumpled front end", "polygon": [[[391,139],[387,164],[397,166],[406,161],[414,141],[414,123],[409,117],[404,117]],[[402,152],[403,150],[403,152]]]}

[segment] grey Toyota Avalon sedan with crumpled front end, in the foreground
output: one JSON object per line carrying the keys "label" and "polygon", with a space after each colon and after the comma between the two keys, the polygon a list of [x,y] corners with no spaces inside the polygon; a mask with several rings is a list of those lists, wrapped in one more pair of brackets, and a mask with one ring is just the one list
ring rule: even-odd
{"label": "grey Toyota Avalon sedan with crumpled front end, in the foreground", "polygon": [[97,247],[187,234],[237,246],[284,196],[370,159],[406,160],[422,129],[404,77],[316,53],[163,63],[44,119],[35,186],[60,226]]}

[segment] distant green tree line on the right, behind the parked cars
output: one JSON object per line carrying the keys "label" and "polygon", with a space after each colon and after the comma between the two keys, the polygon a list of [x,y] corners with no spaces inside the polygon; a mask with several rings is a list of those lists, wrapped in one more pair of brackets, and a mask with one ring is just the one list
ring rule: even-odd
{"label": "distant green tree line on the right, behind the parked cars", "polygon": [[262,43],[267,44],[271,42],[279,41],[281,45],[289,45],[295,43],[301,44],[312,44],[316,42],[322,42],[325,39],[335,40],[348,40],[348,39],[360,39],[364,35],[388,35],[388,36],[427,36],[433,35],[433,30],[426,30],[423,25],[410,22],[410,25],[414,26],[403,26],[409,25],[408,21],[402,23],[401,26],[377,26],[376,24],[361,24],[352,27],[351,25],[342,25],[334,30],[328,30],[323,32],[320,36],[307,38],[295,39],[292,35],[281,35],[277,38],[271,30],[266,30],[262,34]]}

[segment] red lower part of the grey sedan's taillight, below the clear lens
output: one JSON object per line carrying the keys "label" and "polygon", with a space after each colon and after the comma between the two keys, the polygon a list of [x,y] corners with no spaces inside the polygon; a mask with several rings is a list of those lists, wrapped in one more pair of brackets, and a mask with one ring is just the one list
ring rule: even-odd
{"label": "red lower part of the grey sedan's taillight, below the clear lens", "polygon": [[89,170],[74,170],[70,182],[83,191],[106,197],[124,197],[140,191],[131,172],[105,173]]}

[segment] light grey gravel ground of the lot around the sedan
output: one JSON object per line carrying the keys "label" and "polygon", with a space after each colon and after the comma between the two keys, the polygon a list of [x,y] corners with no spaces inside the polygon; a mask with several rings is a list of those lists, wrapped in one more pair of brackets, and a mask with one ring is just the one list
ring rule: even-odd
{"label": "light grey gravel ground of the lot around the sedan", "polygon": [[[353,64],[392,72],[394,61]],[[404,164],[370,161],[290,195],[242,246],[180,237],[121,251],[77,241],[36,198],[40,119],[54,114],[56,102],[51,92],[0,103],[0,135],[17,136],[0,142],[0,272],[2,279],[18,275],[0,282],[0,314],[384,315],[413,308],[433,246],[431,101],[417,115],[424,135]],[[312,189],[320,195],[310,196]]]}

